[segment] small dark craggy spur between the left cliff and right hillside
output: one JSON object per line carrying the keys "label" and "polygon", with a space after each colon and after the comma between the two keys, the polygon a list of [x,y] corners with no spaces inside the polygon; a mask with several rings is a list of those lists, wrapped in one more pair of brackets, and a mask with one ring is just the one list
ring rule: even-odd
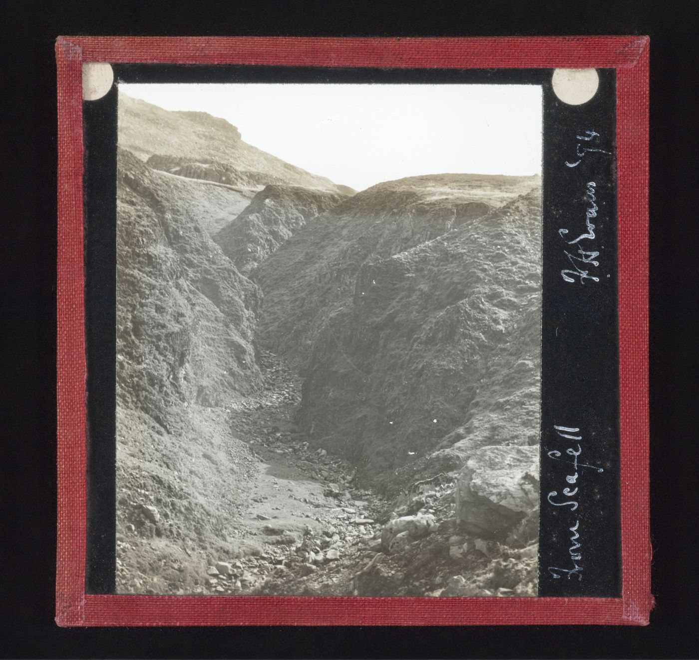
{"label": "small dark craggy spur between the left cliff and right hillside", "polygon": [[268,185],[254,196],[235,222],[214,240],[241,273],[252,269],[295,231],[319,213],[336,206],[345,195],[298,186]]}

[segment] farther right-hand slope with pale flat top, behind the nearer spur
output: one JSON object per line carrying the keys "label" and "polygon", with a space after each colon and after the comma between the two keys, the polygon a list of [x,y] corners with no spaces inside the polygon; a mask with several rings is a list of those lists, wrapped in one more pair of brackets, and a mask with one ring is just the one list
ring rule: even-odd
{"label": "farther right-hand slope with pale flat top, behind the nearer spur", "polygon": [[319,328],[352,301],[366,259],[430,241],[539,185],[538,177],[445,174],[384,182],[345,199],[253,272],[265,295],[259,341],[303,372]]}

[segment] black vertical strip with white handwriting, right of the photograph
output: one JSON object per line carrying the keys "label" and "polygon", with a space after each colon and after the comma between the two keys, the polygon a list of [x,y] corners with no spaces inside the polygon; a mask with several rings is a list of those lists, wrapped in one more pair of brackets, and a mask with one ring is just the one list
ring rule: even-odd
{"label": "black vertical strip with white handwriting, right of the photograph", "polygon": [[540,596],[619,596],[614,71],[544,87]]}

